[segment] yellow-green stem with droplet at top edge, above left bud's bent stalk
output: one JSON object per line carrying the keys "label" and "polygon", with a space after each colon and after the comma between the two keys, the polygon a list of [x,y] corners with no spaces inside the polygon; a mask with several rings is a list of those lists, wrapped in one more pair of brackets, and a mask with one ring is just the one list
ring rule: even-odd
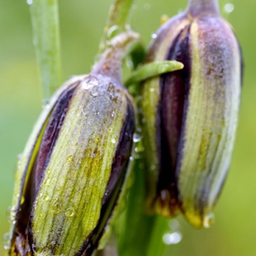
{"label": "yellow-green stem with droplet at top edge, above left bud's bent stalk", "polygon": [[99,54],[107,49],[107,40],[126,31],[126,21],[132,2],[133,0],[115,0],[112,4],[100,43]]}

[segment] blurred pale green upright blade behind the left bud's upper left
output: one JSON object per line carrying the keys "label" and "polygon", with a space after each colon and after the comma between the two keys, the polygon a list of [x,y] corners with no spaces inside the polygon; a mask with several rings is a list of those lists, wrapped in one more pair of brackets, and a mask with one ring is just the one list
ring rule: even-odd
{"label": "blurred pale green upright blade behind the left bud's upper left", "polygon": [[61,83],[58,1],[34,0],[30,4],[41,83],[44,96],[50,97]]}

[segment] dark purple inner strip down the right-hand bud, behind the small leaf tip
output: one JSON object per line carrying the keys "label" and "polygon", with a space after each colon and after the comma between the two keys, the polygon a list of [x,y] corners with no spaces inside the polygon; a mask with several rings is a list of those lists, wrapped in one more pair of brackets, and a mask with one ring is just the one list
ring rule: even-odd
{"label": "dark purple inner strip down the right-hand bud, behind the small leaf tip", "polygon": [[161,100],[158,107],[159,126],[157,126],[160,161],[157,192],[159,197],[162,197],[163,203],[169,198],[171,208],[178,203],[175,170],[184,115],[187,111],[186,102],[191,73],[189,38],[190,26],[186,26],[173,40],[166,55],[168,60],[175,59],[182,62],[184,69],[166,73],[160,78]]}

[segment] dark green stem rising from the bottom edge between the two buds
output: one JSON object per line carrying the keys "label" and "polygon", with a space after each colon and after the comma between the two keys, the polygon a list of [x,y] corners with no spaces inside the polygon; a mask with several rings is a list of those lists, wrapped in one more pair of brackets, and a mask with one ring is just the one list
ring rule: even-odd
{"label": "dark green stem rising from the bottom edge between the two buds", "polygon": [[[134,183],[130,188],[123,220],[116,223],[124,226],[119,240],[120,256],[146,256],[155,216],[145,213],[145,173],[140,168],[141,159],[135,160]],[[159,256],[159,255],[155,255]]]}

